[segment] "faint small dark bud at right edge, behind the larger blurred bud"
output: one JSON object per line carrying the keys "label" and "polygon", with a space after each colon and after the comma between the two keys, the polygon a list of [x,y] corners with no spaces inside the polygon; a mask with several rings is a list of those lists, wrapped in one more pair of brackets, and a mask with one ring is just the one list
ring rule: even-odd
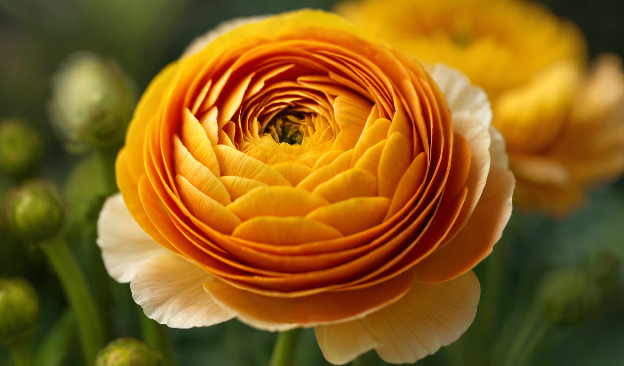
{"label": "faint small dark bud at right edge, behind the larger blurred bud", "polygon": [[593,252],[589,257],[587,270],[605,296],[617,292],[622,285],[620,257],[611,249]]}

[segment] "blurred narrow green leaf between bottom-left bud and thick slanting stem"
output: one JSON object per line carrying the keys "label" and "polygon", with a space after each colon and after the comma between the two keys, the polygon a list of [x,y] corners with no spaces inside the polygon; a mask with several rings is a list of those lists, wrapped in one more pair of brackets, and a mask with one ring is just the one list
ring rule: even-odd
{"label": "blurred narrow green leaf between bottom-left bud and thick slanting stem", "polygon": [[37,366],[61,366],[76,339],[76,317],[71,309],[59,317],[37,351]]}

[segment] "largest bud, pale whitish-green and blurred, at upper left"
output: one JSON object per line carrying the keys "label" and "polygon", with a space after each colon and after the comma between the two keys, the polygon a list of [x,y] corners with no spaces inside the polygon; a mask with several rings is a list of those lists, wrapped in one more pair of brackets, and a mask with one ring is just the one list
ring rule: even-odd
{"label": "largest bud, pale whitish-green and blurred, at upper left", "polygon": [[134,86],[114,61],[91,52],[70,56],[52,77],[49,113],[68,149],[122,140],[134,109]]}

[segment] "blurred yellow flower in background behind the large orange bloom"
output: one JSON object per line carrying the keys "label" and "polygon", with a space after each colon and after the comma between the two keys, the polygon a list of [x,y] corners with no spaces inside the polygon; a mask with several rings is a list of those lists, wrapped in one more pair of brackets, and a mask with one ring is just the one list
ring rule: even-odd
{"label": "blurred yellow flower in background behind the large orange bloom", "polygon": [[[588,86],[598,82],[583,76],[582,33],[544,6],[522,0],[362,0],[336,10],[424,62],[457,67],[484,88],[492,100],[492,124],[507,142],[521,207],[565,214],[580,203],[584,187],[624,169],[623,138],[610,138],[609,149],[597,149],[595,141],[615,131],[620,136],[613,110],[622,102],[621,71],[610,61],[598,73],[613,79]],[[576,117],[585,109],[578,105],[585,103],[587,88],[593,115]],[[593,122],[581,127],[578,118]],[[588,134],[594,137],[573,137]]]}

